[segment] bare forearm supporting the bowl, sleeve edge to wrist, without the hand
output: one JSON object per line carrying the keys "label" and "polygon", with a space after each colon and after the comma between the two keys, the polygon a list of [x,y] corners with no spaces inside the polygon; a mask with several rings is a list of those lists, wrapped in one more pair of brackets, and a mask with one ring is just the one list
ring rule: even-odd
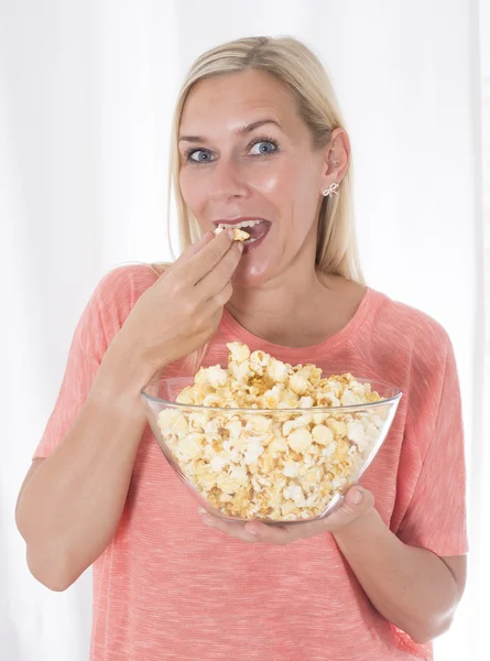
{"label": "bare forearm supporting the bowl, sleeve edge to wrist, without the hand", "polygon": [[437,555],[404,544],[374,508],[334,537],[383,617],[416,642],[432,640],[447,629],[459,589]]}

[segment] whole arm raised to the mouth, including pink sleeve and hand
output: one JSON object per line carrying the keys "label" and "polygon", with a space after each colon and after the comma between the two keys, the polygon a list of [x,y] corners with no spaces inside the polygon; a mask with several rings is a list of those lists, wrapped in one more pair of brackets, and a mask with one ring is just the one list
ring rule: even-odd
{"label": "whole arm raised to the mouth, including pink sleeve and hand", "polygon": [[47,458],[18,498],[28,563],[47,587],[67,588],[112,539],[146,423],[140,388],[211,337],[240,256],[232,235],[208,232],[132,305],[119,270],[97,288],[43,437]]}

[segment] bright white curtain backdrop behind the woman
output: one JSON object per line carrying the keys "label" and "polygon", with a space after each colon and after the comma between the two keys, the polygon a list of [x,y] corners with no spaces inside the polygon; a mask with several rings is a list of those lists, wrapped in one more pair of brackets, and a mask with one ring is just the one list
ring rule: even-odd
{"label": "bright white curtain backdrop behind the woman", "polygon": [[470,575],[436,659],[488,659],[488,0],[0,0],[2,660],[88,659],[90,572],[65,593],[35,582],[17,495],[96,283],[123,262],[171,256],[167,147],[184,72],[252,34],[295,35],[326,64],[352,141],[368,282],[453,339]]}

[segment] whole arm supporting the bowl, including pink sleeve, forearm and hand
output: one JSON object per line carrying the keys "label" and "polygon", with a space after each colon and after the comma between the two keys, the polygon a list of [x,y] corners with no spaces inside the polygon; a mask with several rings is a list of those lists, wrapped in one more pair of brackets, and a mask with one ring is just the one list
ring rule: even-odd
{"label": "whole arm supporting the bowl, including pink sleeve, forearm and hand", "polygon": [[[288,544],[333,533],[373,606],[418,643],[449,627],[465,587],[467,551],[456,361],[447,335],[439,337],[437,330],[435,337],[428,337],[432,344],[424,347],[425,361],[416,365],[417,387],[411,391],[417,415],[404,438],[404,447],[414,444],[420,449],[420,467],[415,488],[409,489],[405,480],[398,484],[404,506],[393,525],[396,534],[375,511],[372,494],[359,486],[350,488],[342,505],[319,521],[268,527],[260,521],[238,524],[202,514],[205,524],[249,543]],[[440,347],[437,369],[434,343]],[[362,495],[359,501],[357,491]]]}

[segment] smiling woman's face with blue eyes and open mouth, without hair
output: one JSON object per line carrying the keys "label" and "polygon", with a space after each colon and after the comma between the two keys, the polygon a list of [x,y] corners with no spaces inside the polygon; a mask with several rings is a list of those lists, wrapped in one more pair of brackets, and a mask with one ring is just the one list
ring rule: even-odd
{"label": "smiling woman's face with blue eyes and open mouth, without hair", "polygon": [[280,82],[259,71],[199,80],[184,105],[178,144],[182,195],[202,230],[242,223],[251,235],[235,284],[313,267],[325,150],[313,148]]}

